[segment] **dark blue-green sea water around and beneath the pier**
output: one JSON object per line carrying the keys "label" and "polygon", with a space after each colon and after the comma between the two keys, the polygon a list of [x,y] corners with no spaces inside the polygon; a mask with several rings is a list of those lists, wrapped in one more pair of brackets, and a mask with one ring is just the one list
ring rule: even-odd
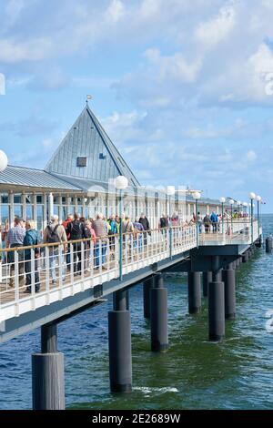
{"label": "dark blue-green sea water around and beneath the pier", "polygon": [[[263,217],[264,233],[273,216]],[[271,409],[273,254],[265,249],[237,274],[237,319],[227,322],[226,340],[207,341],[207,302],[187,315],[186,277],[167,280],[167,353],[149,351],[142,316],[142,288],[130,292],[133,348],[131,394],[109,393],[107,311],[109,301],[59,326],[59,350],[66,358],[66,406],[76,409]],[[31,352],[39,352],[39,331],[0,345],[0,408],[31,408]]]}

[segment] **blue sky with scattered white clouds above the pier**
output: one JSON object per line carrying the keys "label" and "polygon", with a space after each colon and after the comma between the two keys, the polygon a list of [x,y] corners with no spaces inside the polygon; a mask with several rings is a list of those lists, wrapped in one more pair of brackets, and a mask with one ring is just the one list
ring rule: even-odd
{"label": "blue sky with scattered white clouds above the pier", "polygon": [[142,185],[273,212],[272,0],[0,0],[0,148],[44,168],[85,107]]}

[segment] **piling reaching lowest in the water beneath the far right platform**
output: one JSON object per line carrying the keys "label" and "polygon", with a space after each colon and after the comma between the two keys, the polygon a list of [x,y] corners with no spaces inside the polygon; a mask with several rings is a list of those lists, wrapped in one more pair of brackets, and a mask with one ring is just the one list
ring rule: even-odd
{"label": "piling reaching lowest in the water beneath the far right platform", "polygon": [[212,269],[213,280],[208,284],[208,338],[221,341],[225,337],[225,288],[217,256],[213,257]]}

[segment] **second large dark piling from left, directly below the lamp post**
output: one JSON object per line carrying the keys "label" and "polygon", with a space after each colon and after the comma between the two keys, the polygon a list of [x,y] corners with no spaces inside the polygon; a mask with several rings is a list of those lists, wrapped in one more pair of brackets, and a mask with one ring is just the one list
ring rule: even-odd
{"label": "second large dark piling from left, directly below the lamp post", "polygon": [[108,312],[109,377],[111,392],[132,391],[131,320],[127,290],[116,291]]}

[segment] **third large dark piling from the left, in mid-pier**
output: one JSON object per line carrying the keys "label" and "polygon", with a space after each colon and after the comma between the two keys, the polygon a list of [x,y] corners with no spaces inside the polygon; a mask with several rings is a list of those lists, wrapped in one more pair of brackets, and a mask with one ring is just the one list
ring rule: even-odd
{"label": "third large dark piling from the left, in mid-pier", "polygon": [[167,333],[167,289],[161,273],[154,276],[151,299],[151,350],[164,352],[168,348]]}

